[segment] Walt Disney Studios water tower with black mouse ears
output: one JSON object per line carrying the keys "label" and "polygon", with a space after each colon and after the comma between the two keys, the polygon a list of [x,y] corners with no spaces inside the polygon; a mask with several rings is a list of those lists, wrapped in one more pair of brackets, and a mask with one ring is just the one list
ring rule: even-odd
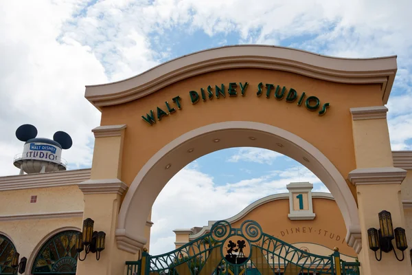
{"label": "Walt Disney Studios water tower with black mouse ears", "polygon": [[61,155],[63,149],[69,149],[73,144],[70,135],[57,131],[53,140],[36,136],[37,129],[30,124],[21,125],[16,130],[16,137],[25,142],[23,153],[14,157],[14,166],[20,169],[20,175],[66,170],[67,162]]}

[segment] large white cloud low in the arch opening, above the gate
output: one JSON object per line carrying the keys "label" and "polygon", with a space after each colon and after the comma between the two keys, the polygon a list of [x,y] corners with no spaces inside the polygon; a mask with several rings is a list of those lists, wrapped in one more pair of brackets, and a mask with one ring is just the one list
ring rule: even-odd
{"label": "large white cloud low in the arch opening, above the gate", "polygon": [[150,253],[161,254],[174,249],[172,230],[232,217],[257,199],[288,192],[286,185],[290,182],[310,181],[322,186],[307,168],[299,170],[300,175],[297,168],[291,168],[218,186],[213,177],[201,173],[198,167],[183,168],[170,179],[153,205]]}

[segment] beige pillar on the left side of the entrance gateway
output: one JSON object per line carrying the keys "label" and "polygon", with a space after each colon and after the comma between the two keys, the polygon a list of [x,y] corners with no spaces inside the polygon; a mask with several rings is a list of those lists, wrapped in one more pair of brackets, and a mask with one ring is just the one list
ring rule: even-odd
{"label": "beige pillar on the left side of the entrance gateway", "polygon": [[[125,261],[133,261],[135,253],[117,248],[115,229],[121,198],[127,187],[121,179],[122,151],[126,125],[99,126],[93,129],[95,146],[91,179],[78,184],[84,194],[83,218],[94,221],[93,230],[106,233],[105,248],[96,260],[94,253],[78,261],[78,275],[123,275]],[[81,258],[84,252],[81,253]]]}

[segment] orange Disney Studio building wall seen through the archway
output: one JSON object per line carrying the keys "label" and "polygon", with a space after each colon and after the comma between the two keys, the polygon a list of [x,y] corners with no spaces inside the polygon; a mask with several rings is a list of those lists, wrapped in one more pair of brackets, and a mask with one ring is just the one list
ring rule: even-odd
{"label": "orange Disney Studio building wall seen through the archway", "polygon": [[[314,198],[312,201],[316,214],[313,220],[290,220],[288,218],[289,200],[285,198],[263,203],[238,221],[231,223],[231,227],[240,228],[243,221],[253,220],[260,224],[264,233],[275,236],[286,243],[321,245],[317,250],[311,250],[311,253],[321,254],[328,251],[331,254],[334,248],[339,248],[342,254],[356,257],[354,250],[345,242],[347,232],[345,222],[336,202],[320,198]],[[188,234],[176,234],[176,242],[187,242],[187,236]],[[192,236],[190,241],[193,240]]]}

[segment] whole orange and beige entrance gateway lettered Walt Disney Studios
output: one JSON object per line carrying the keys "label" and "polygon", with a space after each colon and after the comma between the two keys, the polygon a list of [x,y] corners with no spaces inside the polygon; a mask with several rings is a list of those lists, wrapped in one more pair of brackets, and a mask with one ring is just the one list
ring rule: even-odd
{"label": "whole orange and beige entrance gateway lettered Walt Disney Studios", "polygon": [[[393,167],[383,106],[396,71],[396,56],[334,58],[238,45],[87,86],[85,96],[102,117],[93,129],[91,179],[79,184],[84,217],[94,217],[107,233],[107,255],[117,256],[102,254],[108,265],[79,263],[79,274],[115,274],[121,261],[139,257],[150,236],[146,218],[165,183],[185,164],[220,148],[268,148],[312,170],[341,208],[346,241],[356,252],[361,242],[367,248],[367,230],[376,228],[382,209],[405,227],[399,192],[406,171]],[[371,250],[359,257],[365,274],[411,273],[394,256],[379,265]]]}

